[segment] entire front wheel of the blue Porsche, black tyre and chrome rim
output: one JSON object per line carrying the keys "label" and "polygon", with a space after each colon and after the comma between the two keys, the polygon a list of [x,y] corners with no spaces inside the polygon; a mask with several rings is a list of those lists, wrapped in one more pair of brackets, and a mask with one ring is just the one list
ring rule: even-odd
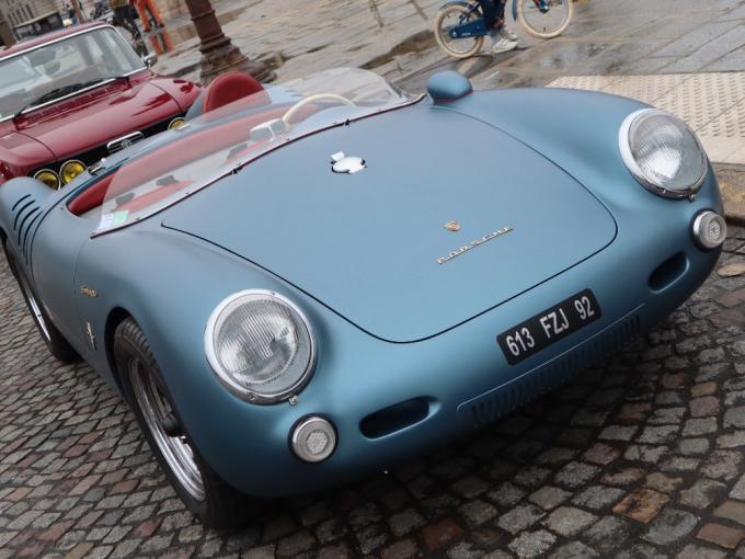
{"label": "entire front wheel of the blue Porsche, black tyre and chrome rim", "polygon": [[202,457],[185,427],[180,427],[180,436],[165,434],[167,415],[172,415],[177,425],[183,422],[148,342],[131,318],[116,327],[114,360],[140,429],[188,510],[213,528],[237,527],[254,518],[261,502],[250,500],[222,480]]}

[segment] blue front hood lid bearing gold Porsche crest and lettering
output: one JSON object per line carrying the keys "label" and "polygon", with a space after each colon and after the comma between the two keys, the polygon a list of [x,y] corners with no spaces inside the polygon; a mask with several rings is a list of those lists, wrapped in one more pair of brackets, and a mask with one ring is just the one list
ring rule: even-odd
{"label": "blue front hood lid bearing gold Porsche crest and lettering", "polygon": [[[333,173],[339,151],[367,169]],[[605,206],[540,153],[426,105],[287,145],[183,201],[163,225],[240,254],[394,342],[498,306],[616,235]]]}

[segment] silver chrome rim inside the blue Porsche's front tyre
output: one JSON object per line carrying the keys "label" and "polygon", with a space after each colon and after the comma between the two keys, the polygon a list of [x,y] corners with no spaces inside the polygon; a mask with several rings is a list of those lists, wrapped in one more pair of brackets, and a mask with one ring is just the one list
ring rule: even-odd
{"label": "silver chrome rim inside the blue Porsche's front tyre", "polygon": [[188,441],[184,435],[169,436],[165,433],[164,422],[173,417],[173,409],[154,376],[139,358],[135,357],[129,362],[128,373],[142,419],[169,468],[192,498],[204,501],[204,480]]}

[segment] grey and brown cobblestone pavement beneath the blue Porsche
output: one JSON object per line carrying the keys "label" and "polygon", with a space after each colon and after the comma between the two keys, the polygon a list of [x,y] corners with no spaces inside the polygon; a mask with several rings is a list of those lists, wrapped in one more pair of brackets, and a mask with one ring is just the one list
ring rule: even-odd
{"label": "grey and brown cobblestone pavement beneath the blue Porsche", "polygon": [[[734,229],[721,264],[742,262]],[[0,557],[745,557],[745,275],[601,369],[356,484],[205,531],[119,396],[46,353],[0,263]]]}

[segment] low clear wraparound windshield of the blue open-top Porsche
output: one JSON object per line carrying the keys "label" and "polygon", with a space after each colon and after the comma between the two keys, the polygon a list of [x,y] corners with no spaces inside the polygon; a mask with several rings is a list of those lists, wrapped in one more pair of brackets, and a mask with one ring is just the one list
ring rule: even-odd
{"label": "low clear wraparound windshield of the blue open-top Porsche", "polygon": [[[139,148],[83,192],[81,199],[103,199],[101,207],[85,207],[85,217],[100,218],[98,233],[123,227],[289,141],[415,99],[358,69],[328,70],[267,88],[163,133],[157,148]],[[78,206],[77,201],[70,205]]]}

